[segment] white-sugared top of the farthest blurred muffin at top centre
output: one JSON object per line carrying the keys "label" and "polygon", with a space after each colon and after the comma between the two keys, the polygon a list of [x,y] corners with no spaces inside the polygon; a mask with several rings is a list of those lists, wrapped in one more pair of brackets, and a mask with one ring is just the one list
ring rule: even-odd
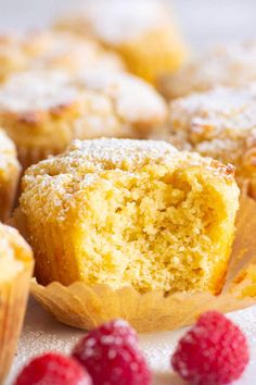
{"label": "white-sugared top of the farthest blurred muffin at top centre", "polygon": [[67,16],[59,25],[73,26],[110,45],[118,45],[169,22],[167,4],[159,0],[95,0],[82,4],[80,14]]}

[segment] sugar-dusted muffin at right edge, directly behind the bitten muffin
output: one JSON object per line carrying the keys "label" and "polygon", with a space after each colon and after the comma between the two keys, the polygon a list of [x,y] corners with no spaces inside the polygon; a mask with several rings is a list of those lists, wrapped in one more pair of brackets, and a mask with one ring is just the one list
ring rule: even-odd
{"label": "sugar-dusted muffin at right edge, directly behind the bitten muffin", "polygon": [[256,198],[256,84],[172,101],[169,124],[153,137],[232,163],[240,186]]}

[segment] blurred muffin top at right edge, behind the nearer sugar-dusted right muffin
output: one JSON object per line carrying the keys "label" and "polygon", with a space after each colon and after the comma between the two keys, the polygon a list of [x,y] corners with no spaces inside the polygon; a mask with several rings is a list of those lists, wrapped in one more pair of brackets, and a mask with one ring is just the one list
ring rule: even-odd
{"label": "blurred muffin top at right edge, behind the nearer sugar-dusted right muffin", "polygon": [[217,86],[240,87],[256,82],[256,40],[222,46],[184,65],[175,75],[159,78],[158,88],[167,99]]}

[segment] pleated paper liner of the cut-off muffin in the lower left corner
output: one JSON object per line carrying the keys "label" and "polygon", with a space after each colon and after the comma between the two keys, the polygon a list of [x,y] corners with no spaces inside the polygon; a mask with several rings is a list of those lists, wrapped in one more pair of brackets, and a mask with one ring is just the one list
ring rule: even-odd
{"label": "pleated paper liner of the cut-off muffin in the lower left corner", "polygon": [[11,368],[26,310],[33,261],[12,280],[0,283],[0,384]]}

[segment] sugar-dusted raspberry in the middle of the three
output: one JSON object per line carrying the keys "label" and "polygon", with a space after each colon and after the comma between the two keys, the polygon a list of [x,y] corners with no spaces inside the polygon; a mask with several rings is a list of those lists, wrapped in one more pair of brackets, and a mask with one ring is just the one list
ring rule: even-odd
{"label": "sugar-dusted raspberry in the middle of the three", "polygon": [[151,373],[138,348],[136,332],[121,320],[90,332],[73,351],[93,385],[149,385]]}

